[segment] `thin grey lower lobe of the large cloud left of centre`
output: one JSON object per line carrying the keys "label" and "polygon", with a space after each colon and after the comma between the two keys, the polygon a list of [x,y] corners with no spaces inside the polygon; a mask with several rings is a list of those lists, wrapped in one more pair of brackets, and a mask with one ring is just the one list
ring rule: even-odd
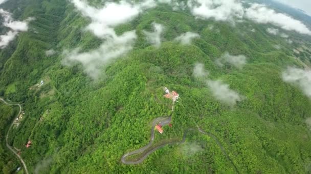
{"label": "thin grey lower lobe of the large cloud left of centre", "polygon": [[130,51],[136,38],[135,31],[131,31],[107,39],[99,48],[90,52],[80,52],[79,48],[64,51],[63,64],[71,66],[79,62],[84,67],[85,73],[96,80],[100,77],[102,66]]}

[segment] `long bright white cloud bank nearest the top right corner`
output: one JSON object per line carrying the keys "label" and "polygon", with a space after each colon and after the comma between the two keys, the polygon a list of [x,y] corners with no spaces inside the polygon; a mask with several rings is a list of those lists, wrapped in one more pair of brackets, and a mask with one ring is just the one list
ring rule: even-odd
{"label": "long bright white cloud bank nearest the top right corner", "polygon": [[311,35],[309,28],[301,21],[288,15],[277,13],[263,5],[252,4],[250,8],[246,9],[245,16],[257,23],[271,23],[281,27],[283,30],[296,31],[301,34]]}

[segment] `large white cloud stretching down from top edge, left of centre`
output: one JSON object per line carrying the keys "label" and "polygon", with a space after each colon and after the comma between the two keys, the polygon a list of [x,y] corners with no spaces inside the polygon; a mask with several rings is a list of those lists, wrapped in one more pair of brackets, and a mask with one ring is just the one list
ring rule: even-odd
{"label": "large white cloud stretching down from top edge, left of centre", "polygon": [[90,52],[80,52],[79,48],[64,51],[63,64],[71,66],[81,63],[84,72],[93,79],[98,79],[104,65],[117,59],[130,51],[137,39],[136,32],[126,32],[118,36],[114,27],[131,21],[141,12],[156,6],[153,0],[145,0],[140,3],[119,1],[118,3],[106,2],[101,8],[90,6],[84,0],[71,0],[75,8],[85,17],[91,19],[86,30],[104,40],[99,48]]}

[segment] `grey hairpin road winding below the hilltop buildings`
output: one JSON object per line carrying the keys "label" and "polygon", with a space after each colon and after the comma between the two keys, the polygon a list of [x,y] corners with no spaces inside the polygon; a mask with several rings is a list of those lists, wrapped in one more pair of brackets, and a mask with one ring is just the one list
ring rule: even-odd
{"label": "grey hairpin road winding below the hilltop buildings", "polygon": [[[141,157],[141,158],[140,158],[139,160],[137,160],[137,161],[136,161],[136,160],[132,160],[132,161],[131,161],[131,160],[126,160],[126,157],[128,157],[128,156],[130,156],[130,155],[142,153],[142,152],[144,152],[145,150],[147,150],[149,147],[152,146],[152,142],[154,141],[154,127],[155,127],[156,124],[159,123],[160,121],[161,121],[161,125],[163,125],[163,126],[164,126],[164,125],[167,125],[167,124],[169,124],[170,121],[171,121],[171,116],[169,116],[169,117],[160,117],[160,118],[154,119],[154,120],[152,121],[151,136],[150,136],[150,141],[149,141],[149,143],[148,143],[146,146],[144,146],[144,147],[142,147],[142,148],[140,148],[140,149],[138,149],[138,150],[136,150],[136,151],[132,151],[132,152],[128,152],[128,153],[124,154],[124,155],[121,157],[121,162],[122,162],[123,164],[139,164],[139,163],[142,163],[142,162],[148,157],[148,155],[152,154],[154,151],[157,151],[158,149],[163,148],[164,146],[171,145],[171,144],[182,144],[182,143],[185,143],[187,133],[188,133],[189,131],[194,131],[194,130],[196,130],[196,129],[194,129],[194,128],[189,128],[189,129],[185,130],[184,135],[183,135],[183,139],[182,139],[181,141],[177,141],[177,142],[167,142],[167,143],[165,143],[165,144],[161,144],[160,146],[154,147],[154,148],[152,148],[151,150],[149,150],[146,154],[144,154],[144,156]],[[231,164],[233,165],[234,170],[236,171],[236,173],[239,173],[237,167],[235,166],[235,164],[233,163],[233,161],[231,160],[231,158],[230,158],[229,155],[227,154],[225,148],[221,145],[221,143],[220,143],[220,141],[217,139],[217,137],[216,137],[214,134],[210,133],[210,132],[205,132],[203,129],[201,129],[201,128],[199,128],[199,127],[198,127],[198,131],[199,131],[200,133],[202,133],[202,134],[208,135],[209,137],[213,138],[213,139],[216,141],[216,143],[217,143],[217,145],[219,146],[221,152],[226,156],[227,160],[230,161]]]}

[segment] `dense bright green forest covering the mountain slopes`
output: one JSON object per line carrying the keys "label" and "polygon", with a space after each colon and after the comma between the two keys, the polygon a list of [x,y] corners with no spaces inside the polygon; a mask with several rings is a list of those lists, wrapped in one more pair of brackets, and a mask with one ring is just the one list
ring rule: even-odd
{"label": "dense bright green forest covering the mountain slopes", "polygon": [[[287,66],[303,67],[310,60],[295,55],[294,44],[269,35],[269,25],[195,19],[161,5],[116,27],[117,34],[136,29],[135,48],[103,67],[102,78],[93,81],[81,65],[61,64],[64,49],[92,50],[102,43],[81,30],[88,20],[72,4],[11,0],[4,7],[17,19],[36,17],[30,31],[0,51],[0,95],[24,103],[25,110],[9,142],[21,149],[30,172],[42,161],[49,161],[46,171],[51,173],[234,173],[234,166],[240,173],[311,171],[311,133],[304,123],[311,117],[311,101],[281,79]],[[151,46],[143,34],[153,21],[166,28],[160,48]],[[173,41],[185,32],[201,38],[191,45]],[[286,34],[310,45],[307,37]],[[45,51],[52,48],[58,53],[47,56]],[[226,51],[246,55],[248,64],[243,69],[218,67],[215,61]],[[223,80],[244,99],[234,107],[216,100],[206,81],[193,77],[196,63],[205,65],[210,79]],[[37,86],[41,79],[45,84]],[[154,143],[181,140],[185,130],[198,125],[217,137],[233,163],[213,138],[196,130],[189,132],[185,144],[166,146],[139,165],[121,163],[125,152],[149,142],[150,122],[171,113],[163,86],[179,92],[181,99],[172,113],[173,127],[165,127]],[[14,111],[0,105],[0,113],[3,136]],[[26,149],[29,139],[33,145]],[[2,155],[4,144],[0,148],[0,167],[13,171],[17,161]]]}

